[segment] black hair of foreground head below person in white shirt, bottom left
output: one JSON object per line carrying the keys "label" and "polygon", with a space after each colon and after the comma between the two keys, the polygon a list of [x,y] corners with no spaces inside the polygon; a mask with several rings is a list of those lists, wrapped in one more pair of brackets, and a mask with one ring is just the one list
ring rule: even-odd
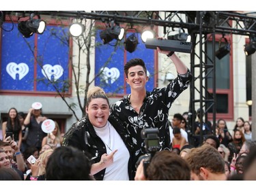
{"label": "black hair of foreground head below person in white shirt, bottom left", "polygon": [[91,180],[91,162],[72,146],[57,147],[48,158],[46,180]]}

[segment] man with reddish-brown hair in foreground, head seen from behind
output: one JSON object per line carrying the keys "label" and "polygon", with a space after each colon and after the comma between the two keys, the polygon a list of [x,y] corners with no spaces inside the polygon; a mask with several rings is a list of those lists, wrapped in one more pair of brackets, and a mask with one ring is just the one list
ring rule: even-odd
{"label": "man with reddish-brown hair in foreground, head seen from behind", "polygon": [[226,180],[225,160],[208,144],[195,147],[184,158],[191,169],[192,180]]}

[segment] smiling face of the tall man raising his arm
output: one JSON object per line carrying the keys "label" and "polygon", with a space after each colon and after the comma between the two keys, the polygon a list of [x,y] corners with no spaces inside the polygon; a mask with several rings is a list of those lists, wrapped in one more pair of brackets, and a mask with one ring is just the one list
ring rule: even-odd
{"label": "smiling face of the tall man raising his arm", "polygon": [[148,77],[140,65],[130,67],[128,70],[128,77],[126,82],[134,90],[145,89],[145,84],[148,81]]}

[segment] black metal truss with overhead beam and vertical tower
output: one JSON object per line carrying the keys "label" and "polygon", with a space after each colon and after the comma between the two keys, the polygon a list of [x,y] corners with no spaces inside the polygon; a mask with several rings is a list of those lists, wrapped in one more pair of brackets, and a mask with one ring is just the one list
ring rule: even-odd
{"label": "black metal truss with overhead beam and vertical tower", "polygon": [[[14,12],[20,15],[29,15],[32,12]],[[193,82],[190,84],[190,107],[192,114],[190,118],[191,131],[195,132],[195,105],[200,105],[200,126],[202,126],[203,118],[208,120],[208,111],[213,114],[213,133],[216,126],[216,84],[215,84],[215,35],[216,34],[233,34],[233,35],[256,35],[256,17],[254,13],[239,12],[218,12],[218,11],[91,11],[91,12],[33,12],[40,16],[46,15],[53,18],[86,18],[98,20],[100,22],[109,22],[115,20],[120,24],[129,23],[134,25],[155,25],[164,27],[164,31],[168,28],[187,29],[192,36],[193,52],[190,55],[190,71],[193,73]],[[5,12],[12,14],[12,12]],[[208,54],[208,41],[211,37],[212,54]],[[195,52],[195,48],[199,47],[199,53]],[[195,63],[195,58],[199,63]],[[199,75],[195,76],[195,70],[199,69]],[[211,87],[213,92],[208,92],[208,80],[212,77]],[[195,83],[199,81],[199,87]],[[199,99],[196,99],[199,94]],[[193,119],[193,120],[192,120]],[[202,131],[201,131],[202,132]],[[192,133],[192,136],[195,136]],[[200,140],[203,141],[203,135],[200,134]]]}

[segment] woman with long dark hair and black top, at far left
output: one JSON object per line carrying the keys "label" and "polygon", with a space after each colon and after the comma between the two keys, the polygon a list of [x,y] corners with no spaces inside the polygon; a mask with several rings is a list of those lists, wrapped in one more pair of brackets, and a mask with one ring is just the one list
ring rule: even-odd
{"label": "woman with long dark hair and black top, at far left", "polygon": [[21,132],[20,120],[18,119],[18,111],[16,108],[12,107],[11,109],[9,109],[8,119],[6,122],[3,122],[2,124],[2,133],[3,136],[8,135],[8,133],[11,133],[11,138],[14,139],[14,141],[16,141],[19,148],[21,147],[23,135]]}

